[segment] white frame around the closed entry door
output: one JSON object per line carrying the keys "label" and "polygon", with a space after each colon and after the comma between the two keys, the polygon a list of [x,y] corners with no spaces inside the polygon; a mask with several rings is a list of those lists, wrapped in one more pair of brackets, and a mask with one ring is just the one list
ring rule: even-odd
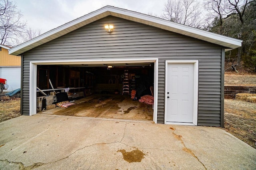
{"label": "white frame around the closed entry door", "polygon": [[[168,64],[185,64],[193,63],[194,64],[194,97],[193,97],[193,123],[181,123],[181,122],[167,122],[167,78],[168,78]],[[165,61],[165,89],[164,89],[164,124],[173,124],[173,125],[197,125],[198,121],[198,60],[166,60]]]}

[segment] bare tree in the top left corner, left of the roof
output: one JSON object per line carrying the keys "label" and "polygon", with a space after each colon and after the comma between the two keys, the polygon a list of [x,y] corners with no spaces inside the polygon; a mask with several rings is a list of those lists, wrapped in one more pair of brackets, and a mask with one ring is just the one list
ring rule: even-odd
{"label": "bare tree in the top left corner, left of the roof", "polygon": [[21,21],[22,13],[16,3],[0,0],[0,43],[11,45],[12,38],[24,31],[26,22]]}

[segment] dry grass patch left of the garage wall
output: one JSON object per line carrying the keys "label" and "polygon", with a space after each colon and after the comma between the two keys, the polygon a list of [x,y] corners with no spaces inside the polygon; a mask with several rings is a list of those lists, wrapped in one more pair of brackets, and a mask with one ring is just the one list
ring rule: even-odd
{"label": "dry grass patch left of the garage wall", "polygon": [[20,98],[0,96],[0,122],[20,115]]}

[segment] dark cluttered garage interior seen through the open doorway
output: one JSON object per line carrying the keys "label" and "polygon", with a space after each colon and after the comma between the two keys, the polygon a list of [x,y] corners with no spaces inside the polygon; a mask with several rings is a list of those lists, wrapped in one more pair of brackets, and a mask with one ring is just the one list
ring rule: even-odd
{"label": "dark cluttered garage interior seen through the open doorway", "polygon": [[[153,99],[154,63],[38,64],[36,85],[39,114],[153,120],[154,102],[141,97]],[[65,92],[75,105],[57,107],[55,93]]]}

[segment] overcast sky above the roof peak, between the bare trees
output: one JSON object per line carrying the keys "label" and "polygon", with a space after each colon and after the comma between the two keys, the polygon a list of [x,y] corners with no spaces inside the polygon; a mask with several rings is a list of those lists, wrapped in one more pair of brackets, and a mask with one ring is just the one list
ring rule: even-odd
{"label": "overcast sky above the roof peak, between the bare trees", "polygon": [[167,0],[14,0],[28,27],[45,33],[64,23],[110,5],[161,16]]}

